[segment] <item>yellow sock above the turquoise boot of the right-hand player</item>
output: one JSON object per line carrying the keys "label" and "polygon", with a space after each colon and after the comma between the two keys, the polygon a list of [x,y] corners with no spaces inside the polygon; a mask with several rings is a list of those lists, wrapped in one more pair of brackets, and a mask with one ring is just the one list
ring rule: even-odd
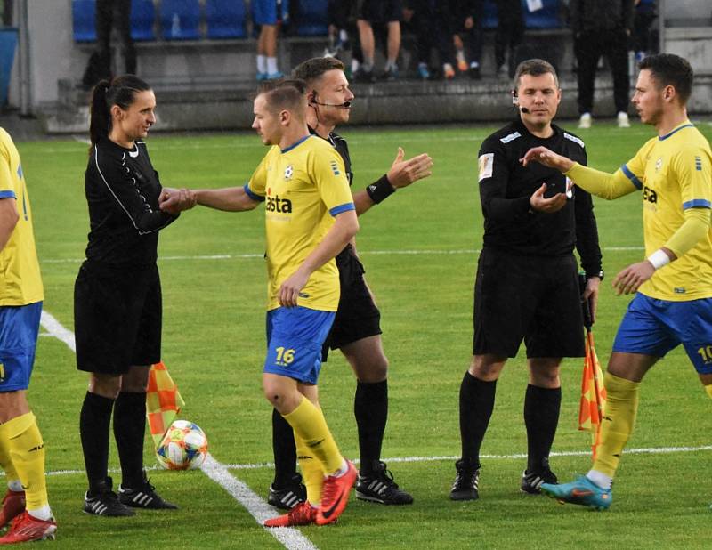
{"label": "yellow sock above the turquoise boot of the right-hand player", "polygon": [[603,382],[606,388],[606,405],[603,408],[601,445],[593,469],[612,478],[618,468],[620,454],[633,433],[640,382],[631,382],[608,372]]}

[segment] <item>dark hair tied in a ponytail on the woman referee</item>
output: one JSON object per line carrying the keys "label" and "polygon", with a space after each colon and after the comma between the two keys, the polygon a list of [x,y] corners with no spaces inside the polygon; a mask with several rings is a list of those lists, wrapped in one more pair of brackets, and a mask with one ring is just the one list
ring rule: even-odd
{"label": "dark hair tied in a ponytail on the woman referee", "polygon": [[[134,102],[136,92],[146,92],[150,86],[135,75],[122,75],[109,80],[101,80],[92,91],[89,121],[89,140],[93,146],[106,139],[111,132],[111,107],[118,105],[128,109]],[[90,150],[92,149],[90,148]]]}

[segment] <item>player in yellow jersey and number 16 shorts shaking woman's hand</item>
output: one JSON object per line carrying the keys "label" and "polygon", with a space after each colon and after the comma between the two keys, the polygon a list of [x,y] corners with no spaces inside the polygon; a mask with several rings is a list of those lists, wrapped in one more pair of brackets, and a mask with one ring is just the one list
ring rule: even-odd
{"label": "player in yellow jersey and number 16 shorts shaking woman's hand", "polygon": [[[321,346],[334,322],[339,276],[334,257],[358,231],[344,161],[306,125],[302,80],[268,81],[255,98],[252,127],[271,149],[244,187],[195,190],[198,204],[252,210],[265,203],[267,358],[265,397],[295,433],[308,501],[267,520],[269,527],[336,522],[356,469],[344,459],[319,406]],[[177,200],[166,190],[162,208]]]}

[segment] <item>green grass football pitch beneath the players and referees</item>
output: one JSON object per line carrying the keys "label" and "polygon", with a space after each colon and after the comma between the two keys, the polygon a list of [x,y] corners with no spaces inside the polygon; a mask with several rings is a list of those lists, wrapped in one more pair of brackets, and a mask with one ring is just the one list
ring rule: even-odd
{"label": "green grass football pitch beneath the players and referees", "polygon": [[[457,392],[471,353],[472,288],[481,247],[477,151],[494,126],[349,129],[354,189],[390,166],[397,147],[428,152],[433,176],[399,190],[361,219],[358,244],[367,279],[383,314],[390,367],[390,416],[384,459],[415,497],[407,507],[355,500],[336,526],[302,530],[320,548],[548,548],[709,546],[712,481],[708,465],[712,416],[689,361],[672,352],[646,378],[635,449],[704,448],[628,454],[603,514],[557,506],[522,495],[518,484],[526,452],[522,420],[527,374],[523,352],[507,363],[498,384],[490,431],[482,446],[481,498],[449,501],[453,457],[459,454]],[[708,137],[712,127],[700,123]],[[631,158],[653,133],[596,124],[579,135],[590,164],[609,171]],[[152,135],[149,148],[161,181],[171,187],[223,187],[247,180],[266,150],[253,134]],[[19,143],[33,208],[45,286],[44,309],[73,329],[72,293],[84,257],[88,220],[84,198],[86,145],[72,140]],[[637,195],[595,200],[603,262],[596,348],[603,367],[628,302],[610,281],[643,257]],[[163,354],[187,404],[181,417],[200,425],[214,458],[225,465],[271,461],[271,408],[261,392],[266,273],[263,212],[228,214],[196,208],[162,231],[159,267],[164,288]],[[563,402],[554,451],[585,452],[589,435],[577,431],[582,360],[562,367]],[[358,457],[352,414],[354,377],[332,353],[322,369],[321,400],[347,457]],[[74,354],[41,337],[29,400],[47,449],[48,486],[59,522],[57,548],[279,548],[245,508],[201,472],[152,470],[158,490],[177,502],[174,513],[135,518],[82,514],[85,491],[78,436],[86,376]],[[146,464],[155,465],[147,437]],[[397,462],[395,458],[423,457]],[[441,458],[438,458],[441,457]],[[389,459],[391,459],[389,461]],[[587,456],[552,459],[560,479],[585,473]],[[118,460],[112,441],[110,467]],[[231,473],[261,496],[268,467]],[[120,474],[114,473],[115,482]]]}

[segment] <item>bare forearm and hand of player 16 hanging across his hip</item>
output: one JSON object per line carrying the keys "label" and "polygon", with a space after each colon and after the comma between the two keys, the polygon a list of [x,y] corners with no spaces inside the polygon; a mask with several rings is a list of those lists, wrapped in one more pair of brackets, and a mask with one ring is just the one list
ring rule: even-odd
{"label": "bare forearm and hand of player 16 hanging across his hip", "polygon": [[358,231],[359,220],[355,210],[336,214],[334,225],[324,235],[324,239],[321,239],[319,245],[304,259],[302,265],[279,287],[279,304],[284,307],[295,307],[299,293],[312,273],[344,250]]}

